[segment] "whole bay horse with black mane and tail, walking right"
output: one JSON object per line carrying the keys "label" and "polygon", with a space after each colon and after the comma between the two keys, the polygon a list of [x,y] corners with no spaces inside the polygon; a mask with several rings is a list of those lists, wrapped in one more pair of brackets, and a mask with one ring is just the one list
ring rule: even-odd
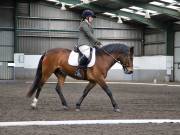
{"label": "whole bay horse with black mane and tail, walking right", "polygon": [[76,111],[80,111],[80,106],[84,98],[88,95],[90,90],[96,84],[99,84],[100,87],[109,96],[113,106],[113,110],[115,112],[120,112],[119,106],[116,103],[111,90],[106,84],[105,78],[107,76],[108,70],[116,62],[122,65],[123,70],[126,74],[133,73],[134,47],[128,47],[123,44],[114,43],[96,49],[95,64],[92,67],[89,67],[84,70],[84,78],[77,78],[74,75],[77,67],[68,64],[68,57],[70,53],[70,49],[55,48],[48,50],[41,56],[37,67],[35,79],[27,93],[27,97],[32,97],[32,95],[36,92],[31,106],[33,108],[36,108],[38,97],[40,95],[43,85],[51,76],[51,74],[55,74],[58,80],[55,90],[59,95],[62,106],[65,110],[68,109],[68,104],[61,89],[64,85],[66,77],[70,76],[74,79],[83,79],[88,81],[88,84],[85,87],[82,96],[76,103]]}

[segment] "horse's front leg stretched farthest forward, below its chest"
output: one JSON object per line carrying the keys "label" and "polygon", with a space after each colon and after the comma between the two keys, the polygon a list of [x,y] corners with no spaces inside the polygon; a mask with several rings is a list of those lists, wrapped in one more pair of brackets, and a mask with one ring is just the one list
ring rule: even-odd
{"label": "horse's front leg stretched farthest forward, below its chest", "polygon": [[109,89],[109,87],[107,86],[106,82],[104,79],[98,80],[98,84],[101,86],[101,88],[106,92],[106,94],[109,96],[112,106],[114,108],[115,112],[120,112],[120,109],[118,107],[118,104],[116,103],[116,101],[114,100],[114,97],[112,95],[111,90]]}

